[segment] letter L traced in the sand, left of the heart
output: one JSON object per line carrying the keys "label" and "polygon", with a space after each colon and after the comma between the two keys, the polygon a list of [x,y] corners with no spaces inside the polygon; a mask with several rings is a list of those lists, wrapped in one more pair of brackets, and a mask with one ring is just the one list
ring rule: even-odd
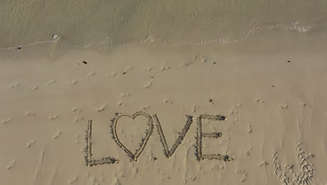
{"label": "letter L traced in the sand, left of the heart", "polygon": [[100,160],[94,160],[92,159],[93,153],[92,153],[92,124],[93,121],[90,120],[87,125],[87,135],[85,137],[87,146],[85,147],[85,165],[92,167],[96,165],[105,165],[105,164],[113,164],[118,163],[118,160],[112,157],[107,158],[101,158]]}

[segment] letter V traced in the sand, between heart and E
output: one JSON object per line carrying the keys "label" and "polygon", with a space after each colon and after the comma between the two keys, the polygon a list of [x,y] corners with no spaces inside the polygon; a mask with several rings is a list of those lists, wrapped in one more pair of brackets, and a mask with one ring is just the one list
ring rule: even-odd
{"label": "letter V traced in the sand, between heart and E", "polygon": [[175,144],[170,149],[170,151],[168,149],[168,145],[167,145],[167,142],[166,142],[165,135],[163,135],[161,124],[160,124],[160,121],[159,121],[159,119],[157,117],[157,114],[154,114],[153,115],[153,118],[154,118],[154,120],[157,123],[157,128],[158,128],[158,133],[159,133],[159,136],[160,136],[160,141],[161,141],[161,143],[163,145],[163,151],[165,153],[165,156],[167,158],[169,158],[170,156],[173,156],[173,153],[175,152],[175,150],[177,149],[177,147],[182,143],[182,140],[184,139],[187,131],[189,131],[189,127],[191,126],[193,117],[192,116],[187,116],[187,123],[185,124],[182,132],[180,133],[180,137],[177,138]]}

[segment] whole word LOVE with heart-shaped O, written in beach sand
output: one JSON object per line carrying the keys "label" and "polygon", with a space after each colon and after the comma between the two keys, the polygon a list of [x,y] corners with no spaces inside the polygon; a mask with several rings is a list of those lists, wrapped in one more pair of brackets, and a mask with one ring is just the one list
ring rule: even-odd
{"label": "whole word LOVE with heart-shaped O, written in beach sand", "polygon": [[[145,130],[145,137],[143,137],[140,141],[140,147],[136,149],[136,152],[133,153],[130,149],[128,149],[122,141],[119,139],[119,136],[117,134],[117,124],[119,124],[119,119],[121,118],[130,118],[132,120],[135,120],[137,117],[143,117],[147,120],[148,129]],[[221,154],[203,154],[202,153],[202,142],[203,137],[210,137],[210,138],[218,138],[222,136],[221,132],[211,132],[211,133],[204,133],[202,132],[202,120],[208,119],[212,121],[224,121],[226,120],[225,116],[220,115],[208,115],[208,114],[202,114],[198,116],[198,131],[197,131],[197,137],[196,137],[196,157],[198,160],[204,160],[204,159],[217,159],[217,160],[224,160],[224,161],[231,161],[233,158],[230,156],[222,156]],[[153,129],[154,129],[154,122],[156,123],[157,130],[160,136],[160,141],[163,145],[163,151],[167,158],[170,158],[170,156],[173,156],[173,153],[177,149],[177,147],[182,143],[182,140],[184,139],[185,135],[189,131],[189,128],[191,126],[191,123],[193,122],[192,116],[187,116],[187,123],[184,125],[184,128],[182,129],[182,132],[180,132],[179,137],[175,141],[175,144],[173,144],[173,147],[171,149],[168,148],[168,144],[166,142],[166,137],[163,134],[163,130],[161,128],[161,123],[159,121],[159,118],[157,117],[157,114],[154,114],[153,116],[150,116],[149,114],[139,111],[136,112],[133,115],[130,114],[116,114],[116,117],[112,119],[112,125],[111,125],[111,132],[112,132],[112,138],[115,140],[115,142],[118,144],[118,146],[127,153],[129,157],[131,157],[131,160],[138,160],[138,157],[145,149],[145,146],[147,145],[148,140],[150,139],[150,136],[152,135]],[[85,148],[85,162],[87,166],[94,166],[94,165],[104,165],[104,164],[113,164],[118,163],[118,160],[112,157],[106,157],[101,158],[99,160],[95,160],[92,158],[92,120],[89,121],[87,125],[87,135],[85,137],[87,146]]]}

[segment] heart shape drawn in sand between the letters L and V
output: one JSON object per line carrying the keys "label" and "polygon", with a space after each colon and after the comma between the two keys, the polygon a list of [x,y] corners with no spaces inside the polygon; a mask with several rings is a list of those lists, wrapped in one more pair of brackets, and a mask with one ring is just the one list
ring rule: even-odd
{"label": "heart shape drawn in sand between the letters L and V", "polygon": [[[117,135],[117,122],[119,121],[119,118],[122,117],[127,117],[127,118],[131,118],[133,120],[135,120],[136,117],[138,116],[145,116],[147,118],[147,124],[150,125],[149,130],[147,130],[145,137],[141,140],[140,142],[140,148],[138,148],[136,150],[135,153],[131,152],[129,149],[127,149],[126,146],[124,146],[124,144],[122,144],[122,142],[119,140],[118,135]],[[152,131],[153,131],[153,122],[152,122],[152,118],[149,114],[146,114],[145,112],[142,111],[138,111],[133,115],[129,115],[129,114],[117,114],[115,120],[112,123],[112,133],[113,133],[113,139],[115,140],[115,142],[118,144],[118,146],[120,148],[122,148],[129,156],[131,156],[131,158],[133,158],[133,160],[138,160],[138,156],[140,156],[140,154],[142,153],[143,149],[145,148],[145,145],[147,144],[147,141],[149,140]],[[131,125],[132,126],[132,125]]]}

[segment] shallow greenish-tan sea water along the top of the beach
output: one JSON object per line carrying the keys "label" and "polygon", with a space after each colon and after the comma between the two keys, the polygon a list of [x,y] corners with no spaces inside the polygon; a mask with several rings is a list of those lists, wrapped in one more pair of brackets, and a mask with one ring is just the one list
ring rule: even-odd
{"label": "shallow greenish-tan sea water along the top of the beach", "polygon": [[0,18],[0,48],[53,41],[54,34],[78,47],[226,44],[261,29],[324,36],[327,1],[0,0]]}

